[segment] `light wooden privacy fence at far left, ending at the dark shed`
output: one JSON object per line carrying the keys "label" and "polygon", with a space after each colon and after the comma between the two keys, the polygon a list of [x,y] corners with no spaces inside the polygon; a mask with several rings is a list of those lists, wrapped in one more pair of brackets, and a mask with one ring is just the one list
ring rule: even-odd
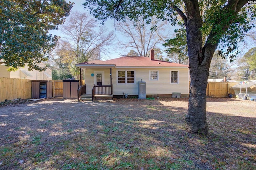
{"label": "light wooden privacy fence at far left, ending at the dark shed", "polygon": [[31,98],[31,80],[0,77],[0,102]]}

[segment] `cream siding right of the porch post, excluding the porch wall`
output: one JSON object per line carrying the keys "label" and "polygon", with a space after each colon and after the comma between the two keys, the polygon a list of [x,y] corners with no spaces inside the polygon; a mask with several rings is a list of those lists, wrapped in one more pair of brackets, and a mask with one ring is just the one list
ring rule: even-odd
{"label": "cream siding right of the porch post, excluding the porch wall", "polygon": [[[126,69],[128,70],[128,69]],[[146,94],[172,94],[173,92],[180,92],[181,94],[188,94],[188,68],[178,68],[179,84],[170,84],[170,70],[171,68],[158,69],[158,81],[150,81],[149,71],[146,68],[136,68],[134,84],[123,84],[122,86],[113,83],[113,94],[123,95],[123,92],[129,95],[138,95],[138,82],[141,80],[146,82]],[[112,69],[113,82],[116,81],[116,69]]]}

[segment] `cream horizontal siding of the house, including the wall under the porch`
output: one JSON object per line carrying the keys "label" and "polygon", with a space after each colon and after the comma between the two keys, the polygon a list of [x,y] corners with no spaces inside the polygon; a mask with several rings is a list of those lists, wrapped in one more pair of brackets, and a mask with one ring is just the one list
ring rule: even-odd
{"label": "cream horizontal siding of the house, including the wall under the porch", "polygon": [[[127,68],[126,71],[134,71],[134,84],[117,84],[118,69],[112,68],[112,84],[114,95],[138,95],[138,82],[141,80],[146,82],[146,94],[172,94],[173,92],[180,92],[181,94],[188,94],[188,68],[157,68],[158,70],[158,81],[151,81],[149,78],[150,70],[146,68]],[[123,71],[125,71],[123,70]],[[154,70],[154,69],[152,69]],[[170,71],[178,70],[178,82],[179,84],[170,84]],[[86,92],[87,94],[92,93],[92,87],[94,84],[94,77],[91,76],[94,72],[104,72],[104,85],[110,85],[110,68],[86,68],[85,79],[86,79]]]}

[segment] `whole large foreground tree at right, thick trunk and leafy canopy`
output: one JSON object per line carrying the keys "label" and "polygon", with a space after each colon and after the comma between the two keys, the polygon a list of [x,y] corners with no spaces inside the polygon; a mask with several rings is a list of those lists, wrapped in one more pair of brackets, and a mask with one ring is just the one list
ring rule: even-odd
{"label": "whole large foreground tree at right, thick trunk and leafy canopy", "polygon": [[[136,21],[143,16],[146,23],[152,17],[178,22],[186,29],[190,69],[190,97],[186,129],[192,133],[208,134],[206,121],[206,87],[212,57],[219,47],[222,57],[236,57],[235,49],[252,27],[255,5],[248,0],[86,0],[98,20],[108,18]],[[206,37],[204,40],[203,37]]]}

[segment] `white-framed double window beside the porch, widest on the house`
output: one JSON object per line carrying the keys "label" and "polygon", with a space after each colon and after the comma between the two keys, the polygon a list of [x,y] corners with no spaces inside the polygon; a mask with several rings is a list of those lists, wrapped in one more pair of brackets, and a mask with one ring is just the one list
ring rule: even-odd
{"label": "white-framed double window beside the porch, widest on the house", "polygon": [[134,70],[117,70],[117,84],[135,84]]}

